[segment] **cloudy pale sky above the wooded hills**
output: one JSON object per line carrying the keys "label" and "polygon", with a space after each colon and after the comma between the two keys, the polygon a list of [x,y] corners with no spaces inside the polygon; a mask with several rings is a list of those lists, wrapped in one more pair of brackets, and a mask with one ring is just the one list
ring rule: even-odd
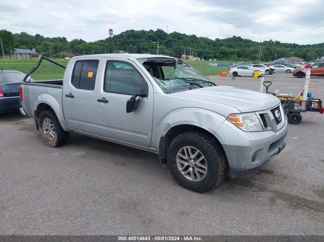
{"label": "cloudy pale sky above the wooded hills", "polygon": [[254,41],[324,42],[324,1],[1,0],[0,29],[95,41],[128,29]]}

